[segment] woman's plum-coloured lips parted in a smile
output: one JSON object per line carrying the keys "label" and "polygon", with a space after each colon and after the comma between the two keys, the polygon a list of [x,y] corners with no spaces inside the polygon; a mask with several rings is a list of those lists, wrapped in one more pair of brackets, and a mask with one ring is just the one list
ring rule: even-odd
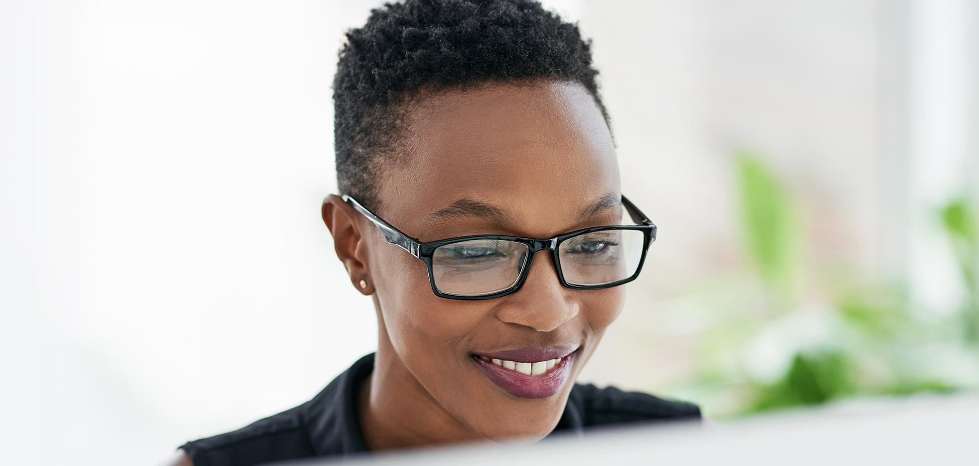
{"label": "woman's plum-coloured lips parted in a smile", "polygon": [[[472,353],[470,359],[483,370],[492,383],[512,396],[521,398],[546,398],[561,391],[561,387],[571,375],[572,365],[578,356],[576,345],[549,347],[544,349],[520,349],[499,351],[493,353]],[[483,360],[484,355],[495,359],[506,359],[515,362],[535,362],[561,357],[550,370],[543,374],[527,375],[512,369],[506,369],[492,362]],[[499,357],[503,355],[505,357]],[[567,356],[567,357],[564,357]]]}

